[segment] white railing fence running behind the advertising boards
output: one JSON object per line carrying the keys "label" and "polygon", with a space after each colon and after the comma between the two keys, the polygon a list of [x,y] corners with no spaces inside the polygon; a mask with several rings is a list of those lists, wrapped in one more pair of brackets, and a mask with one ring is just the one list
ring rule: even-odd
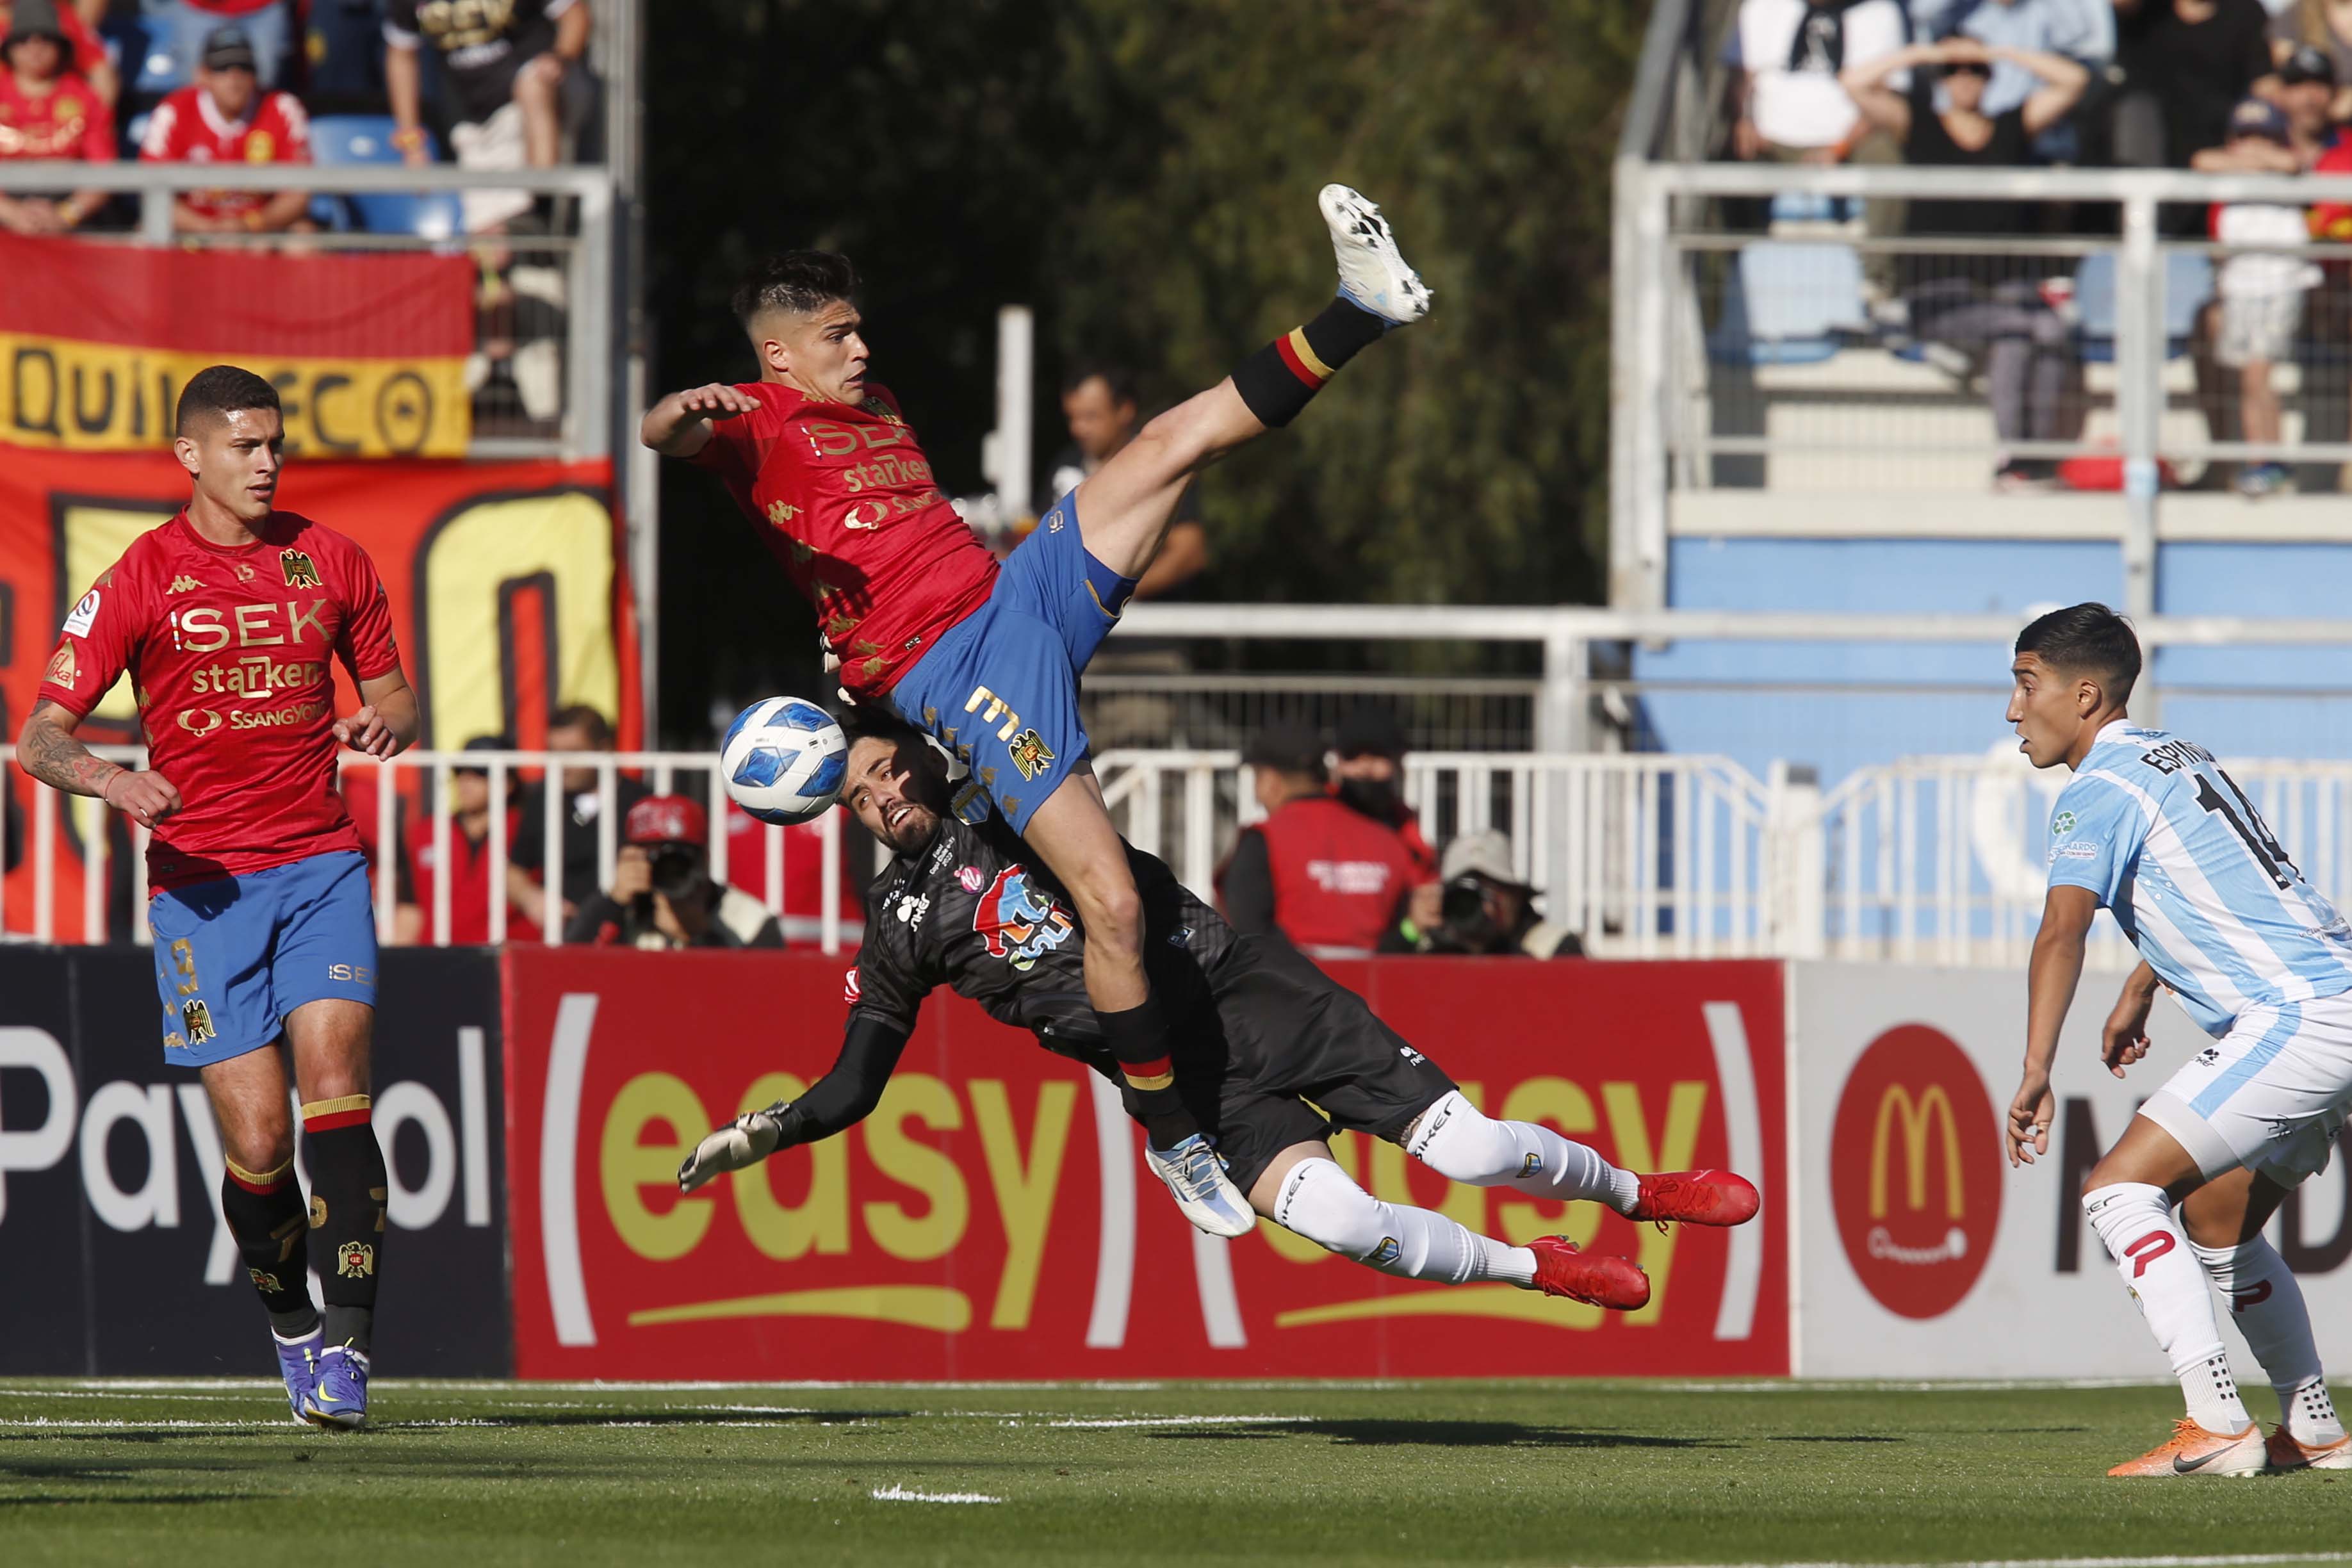
{"label": "white railing fence running behind the advertising boards", "polygon": [[[136,762],[129,748],[101,748]],[[532,783],[548,766],[586,769],[597,795],[597,884],[607,886],[621,844],[619,780],[708,802],[710,870],[729,882],[727,797],[703,752],[407,752],[390,764],[343,759],[346,783],[362,776],[372,804],[362,832],[376,856],[379,936],[397,929],[390,856],[430,846],[449,865],[452,769],[489,773],[492,799],[508,783]],[[1251,769],[1237,752],[1105,752],[1103,797],[1138,849],[1162,856],[1214,903],[1216,870],[1235,832],[1261,811]],[[2328,896],[2352,893],[2352,762],[2239,762],[2230,776]],[[1423,752],[1406,759],[1404,792],[1430,844],[1496,827],[1510,837],[1515,870],[1543,893],[1550,919],[1583,936],[1595,957],[1835,957],[1898,964],[2023,964],[2042,917],[2051,804],[2067,773],[2037,773],[2016,752],[1912,757],[1860,769],[1823,795],[1804,773],[1773,769],[1759,780],[1722,757]],[[383,785],[390,788],[383,788]],[[108,886],[146,903],[146,832],[132,827],[132,865],[108,877],[106,809],[21,783],[31,797],[26,872],[16,898],[0,900],[0,940],[75,940],[108,929]],[[358,795],[358,790],[355,790]],[[362,799],[365,799],[362,797]],[[517,825],[562,842],[562,790],[541,795],[543,823]],[[870,865],[870,846],[828,813],[804,830],[755,827],[753,853],[767,907],[786,938],[826,952],[856,945],[842,917]],[[506,940],[508,825],[489,818],[489,938]],[[788,867],[818,858],[821,905],[795,907]],[[82,867],[78,896],[68,867]],[[21,884],[26,884],[24,889]],[[28,893],[28,896],[26,896]],[[550,891],[539,893],[550,900]],[[851,905],[856,900],[851,898]],[[120,910],[113,910],[122,924]],[[435,877],[419,910],[421,943],[449,943],[452,879]],[[560,943],[553,905],[532,912],[536,940]],[[146,943],[146,922],[129,922]],[[2131,954],[2100,917],[2091,961],[2124,966]]]}

